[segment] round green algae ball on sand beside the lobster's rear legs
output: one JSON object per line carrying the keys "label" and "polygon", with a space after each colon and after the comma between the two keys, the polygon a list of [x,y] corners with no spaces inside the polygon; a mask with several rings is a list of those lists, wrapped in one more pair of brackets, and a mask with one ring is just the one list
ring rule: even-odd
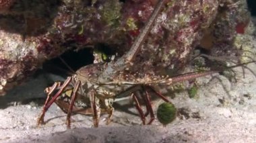
{"label": "round green algae ball on sand beside the lobster's rear legs", "polygon": [[157,117],[163,125],[170,124],[177,114],[177,109],[172,103],[162,103],[158,106]]}

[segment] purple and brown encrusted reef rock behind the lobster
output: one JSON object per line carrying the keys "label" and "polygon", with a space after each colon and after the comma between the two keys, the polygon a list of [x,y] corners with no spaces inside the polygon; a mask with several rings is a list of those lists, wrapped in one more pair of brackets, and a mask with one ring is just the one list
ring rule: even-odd
{"label": "purple and brown encrusted reef rock behind the lobster", "polygon": [[[42,62],[69,49],[105,44],[119,58],[129,50],[154,3],[152,0],[15,1],[7,13],[0,15],[1,95],[23,82]],[[166,74],[166,70],[171,73],[183,68],[211,24],[208,33],[210,40],[218,34],[213,40],[216,45],[228,43],[226,38],[232,41],[236,23],[241,23],[239,32],[247,26],[244,23],[247,19],[241,18],[241,13],[246,12],[241,10],[243,5],[245,1],[166,1],[129,72]],[[218,15],[220,20],[214,23]],[[223,26],[230,29],[222,30]]]}

